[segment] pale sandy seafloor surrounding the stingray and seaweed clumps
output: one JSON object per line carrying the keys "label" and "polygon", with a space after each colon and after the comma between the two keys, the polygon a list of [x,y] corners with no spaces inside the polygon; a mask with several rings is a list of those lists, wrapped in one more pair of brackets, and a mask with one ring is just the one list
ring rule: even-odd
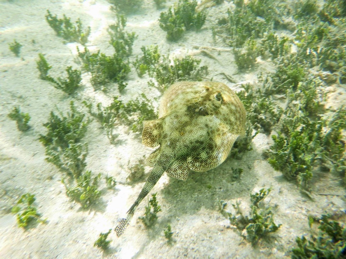
{"label": "pale sandy seafloor surrounding the stingray and seaweed clumps", "polygon": [[[158,11],[153,1],[144,2],[139,12],[127,16],[127,31],[138,35],[131,61],[142,54],[140,47],[158,45],[161,54],[194,55],[202,59],[201,65],[207,65],[210,72],[206,80],[212,77],[229,87],[234,84],[220,73],[232,75],[240,83],[255,81],[260,71],[264,74],[273,71],[272,62],[259,60],[254,69],[238,73],[231,49],[221,41],[213,42],[213,20],[224,15],[230,2],[209,8],[202,30],[186,32],[177,43],[167,42],[157,21],[160,12],[167,8]],[[168,1],[166,7],[172,3]],[[117,238],[115,232],[111,232],[112,242],[107,252],[93,247],[100,232],[116,226],[144,184],[126,184],[128,164],[137,163],[152,149],[141,143],[140,134],[134,134],[125,126],[117,128],[120,141],[112,145],[94,120],[83,138],[89,144],[86,170],[113,176],[118,184],[113,190],[107,190],[101,181],[101,199],[90,210],[83,210],[79,203],[71,202],[61,183],[64,175],[45,161],[44,147],[38,141],[38,135],[46,132],[43,123],[48,121],[51,111],[69,111],[70,100],[87,113],[82,100],[108,105],[112,96],[119,92],[116,85],[110,87],[107,94],[94,91],[90,76],[84,73],[83,89],[73,97],[68,96],[38,78],[35,60],[38,53],[45,54],[53,67],[49,71],[53,77],[65,75],[66,66],[80,68],[74,61],[76,44],[64,44],[55,35],[45,20],[46,9],[59,18],[63,13],[72,21],[81,18],[84,26],[91,26],[87,46],[112,54],[106,29],[115,23],[115,13],[109,6],[102,0],[0,1],[0,258],[285,258],[289,257],[288,251],[294,246],[296,236],[303,233],[309,236],[308,214],[339,213],[346,207],[344,187],[335,175],[326,172],[315,172],[311,182],[312,199],[300,193],[294,181],[286,180],[262,158],[262,151],[272,140],[271,136],[260,133],[253,140],[253,150],[243,153],[240,160],[229,157],[216,169],[191,172],[186,181],[164,174],[151,192],[157,192],[162,209],[156,226],[148,231],[138,220],[144,213],[145,199],[123,236]],[[23,45],[19,58],[9,50],[8,44],[13,39]],[[220,49],[220,55],[217,55],[219,50],[209,49],[218,61],[201,55],[194,46]],[[140,93],[151,100],[160,97],[157,89],[147,86],[148,80],[147,76],[139,78],[131,67],[128,86],[120,99],[127,102]],[[345,100],[345,86],[329,87],[332,91],[328,94],[327,106],[338,108]],[[31,116],[31,130],[25,133],[19,132],[15,122],[7,117],[16,105]],[[157,107],[158,103],[154,101],[154,105]],[[231,167],[243,168],[239,180],[230,180]],[[145,168],[149,172],[150,167]],[[207,188],[209,184],[210,189]],[[227,201],[230,210],[230,204],[241,201],[240,207],[247,213],[249,193],[269,187],[272,191],[266,202],[274,207],[274,220],[282,226],[252,247],[229,226],[229,220],[218,211],[217,202]],[[16,215],[11,214],[10,209],[20,195],[27,192],[35,194],[35,205],[47,218],[47,223],[24,230],[17,227]],[[167,245],[163,234],[168,222],[174,231],[173,246]]]}

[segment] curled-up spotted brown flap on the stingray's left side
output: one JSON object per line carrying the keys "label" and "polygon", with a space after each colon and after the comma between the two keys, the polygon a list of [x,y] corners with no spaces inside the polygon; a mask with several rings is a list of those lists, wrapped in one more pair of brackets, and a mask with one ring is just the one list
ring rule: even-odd
{"label": "curled-up spotted brown flap on the stingray's left side", "polygon": [[162,119],[144,121],[142,143],[148,147],[156,147],[162,134]]}

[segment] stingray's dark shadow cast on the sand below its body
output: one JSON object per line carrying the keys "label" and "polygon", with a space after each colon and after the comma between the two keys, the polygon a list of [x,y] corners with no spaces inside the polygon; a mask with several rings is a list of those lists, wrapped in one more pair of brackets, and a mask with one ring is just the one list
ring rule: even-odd
{"label": "stingray's dark shadow cast on the sand below its body", "polygon": [[[207,172],[190,171],[185,181],[170,177],[169,183],[159,193],[167,204],[165,214],[169,218],[192,215],[202,207],[214,211],[219,200],[248,196],[257,178],[254,156],[251,154],[253,152],[245,153],[242,160],[228,158]],[[235,181],[232,168],[243,169],[239,179]]]}

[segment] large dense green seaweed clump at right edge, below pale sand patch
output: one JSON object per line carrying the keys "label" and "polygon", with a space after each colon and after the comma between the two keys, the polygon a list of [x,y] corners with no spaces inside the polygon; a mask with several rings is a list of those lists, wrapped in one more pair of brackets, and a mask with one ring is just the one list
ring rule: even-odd
{"label": "large dense green seaweed clump at right edge, below pale sand patch", "polygon": [[299,109],[291,113],[284,119],[283,132],[272,136],[274,144],[268,150],[268,162],[288,179],[297,179],[302,190],[309,190],[308,182],[317,165],[329,170],[340,165],[344,177],[345,143],[341,131],[346,127],[346,112],[343,107],[331,118],[319,121],[310,121]]}

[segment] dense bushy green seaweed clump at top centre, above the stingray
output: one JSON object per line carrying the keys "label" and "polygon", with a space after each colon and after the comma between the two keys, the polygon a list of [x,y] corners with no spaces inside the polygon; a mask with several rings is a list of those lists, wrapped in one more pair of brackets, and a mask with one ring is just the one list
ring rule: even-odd
{"label": "dense bushy green seaweed clump at top centre, above the stingray", "polygon": [[198,31],[202,28],[207,13],[205,10],[196,11],[197,1],[180,0],[169,7],[167,12],[160,14],[160,27],[167,32],[167,39],[172,41],[179,40],[185,30]]}

